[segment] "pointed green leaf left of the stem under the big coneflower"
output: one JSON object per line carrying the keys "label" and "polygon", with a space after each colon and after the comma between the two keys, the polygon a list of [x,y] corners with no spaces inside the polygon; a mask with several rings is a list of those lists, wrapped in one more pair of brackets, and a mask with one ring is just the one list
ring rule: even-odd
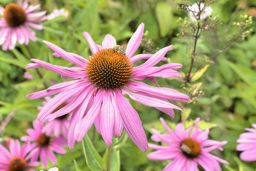
{"label": "pointed green leaf left of the stem under the big coneflower", "polygon": [[88,168],[93,171],[102,171],[102,163],[103,160],[100,157],[100,154],[97,152],[95,147],[93,146],[88,135],[85,135],[85,140],[82,141],[84,158]]}

